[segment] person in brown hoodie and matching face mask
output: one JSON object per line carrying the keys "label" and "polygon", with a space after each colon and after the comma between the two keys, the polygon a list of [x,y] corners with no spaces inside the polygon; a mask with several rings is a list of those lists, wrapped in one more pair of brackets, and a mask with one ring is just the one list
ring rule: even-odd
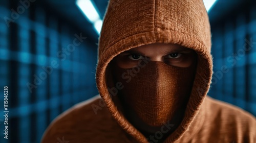
{"label": "person in brown hoodie and matching face mask", "polygon": [[110,0],[98,47],[100,96],[60,114],[41,142],[256,142],[254,116],[207,96],[202,0]]}

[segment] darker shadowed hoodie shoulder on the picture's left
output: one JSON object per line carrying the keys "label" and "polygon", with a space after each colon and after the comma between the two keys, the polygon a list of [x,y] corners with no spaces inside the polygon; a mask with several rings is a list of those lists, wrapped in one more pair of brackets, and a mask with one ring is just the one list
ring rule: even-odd
{"label": "darker shadowed hoodie shoulder on the picture's left", "polygon": [[100,96],[96,96],[57,116],[45,131],[41,142],[95,140],[100,132],[111,132],[113,129],[118,130],[119,127]]}

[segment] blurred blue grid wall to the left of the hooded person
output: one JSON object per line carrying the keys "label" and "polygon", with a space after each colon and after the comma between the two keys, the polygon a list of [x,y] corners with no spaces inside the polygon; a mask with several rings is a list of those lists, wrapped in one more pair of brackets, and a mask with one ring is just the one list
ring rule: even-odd
{"label": "blurred blue grid wall to the left of the hooded person", "polygon": [[[11,17],[7,1],[0,3],[5,16]],[[9,89],[9,138],[1,115],[0,142],[39,142],[58,114],[98,94],[97,45],[78,39],[86,33],[40,8],[26,9],[9,24],[0,21],[0,88]],[[70,45],[75,38],[76,46]]]}

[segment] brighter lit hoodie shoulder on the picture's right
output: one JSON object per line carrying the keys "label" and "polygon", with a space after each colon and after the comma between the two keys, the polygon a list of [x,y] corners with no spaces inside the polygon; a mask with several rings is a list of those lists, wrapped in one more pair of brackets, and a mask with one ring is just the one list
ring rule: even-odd
{"label": "brighter lit hoodie shoulder on the picture's right", "polygon": [[252,114],[210,97],[205,101],[206,128],[217,131],[216,135],[233,138],[236,142],[256,141],[256,118]]}

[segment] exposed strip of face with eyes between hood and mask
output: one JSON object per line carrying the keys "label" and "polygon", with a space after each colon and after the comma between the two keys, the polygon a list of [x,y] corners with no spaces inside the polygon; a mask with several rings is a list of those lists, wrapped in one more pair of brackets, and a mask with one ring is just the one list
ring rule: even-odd
{"label": "exposed strip of face with eyes between hood and mask", "polygon": [[177,44],[149,44],[120,53],[115,63],[121,68],[133,68],[143,61],[160,61],[170,66],[188,67],[197,60],[197,53]]}

